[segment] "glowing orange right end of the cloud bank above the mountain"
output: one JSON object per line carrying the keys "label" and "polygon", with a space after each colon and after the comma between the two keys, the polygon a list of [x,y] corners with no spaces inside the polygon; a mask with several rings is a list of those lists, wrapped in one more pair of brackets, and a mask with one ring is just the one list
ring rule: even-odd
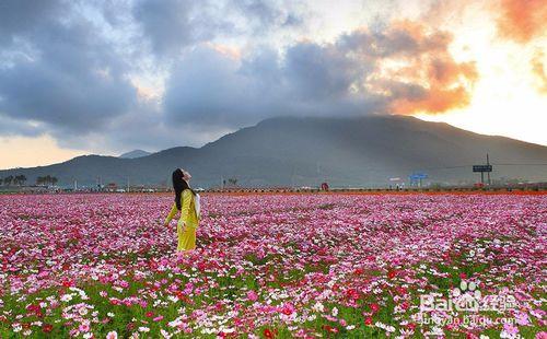
{"label": "glowing orange right end of the cloud bank above the mountain", "polygon": [[380,60],[369,89],[389,98],[391,113],[442,114],[469,105],[479,75],[475,62],[454,60],[451,33],[404,21],[385,39],[403,48]]}

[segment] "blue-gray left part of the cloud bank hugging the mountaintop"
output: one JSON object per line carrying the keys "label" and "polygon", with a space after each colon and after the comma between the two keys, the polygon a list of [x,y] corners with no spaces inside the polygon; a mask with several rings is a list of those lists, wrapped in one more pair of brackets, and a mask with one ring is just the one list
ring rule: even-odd
{"label": "blue-gray left part of the cloud bank hugging the mountaintop", "polygon": [[350,87],[366,69],[331,45],[296,44],[284,56],[265,49],[242,61],[201,47],[172,71],[164,109],[179,124],[230,128],[277,115],[363,114],[379,101]]}

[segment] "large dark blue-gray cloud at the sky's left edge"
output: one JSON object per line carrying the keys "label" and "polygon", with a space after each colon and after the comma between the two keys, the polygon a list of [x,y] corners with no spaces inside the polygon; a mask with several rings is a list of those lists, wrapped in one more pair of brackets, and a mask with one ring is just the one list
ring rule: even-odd
{"label": "large dark blue-gray cloud at the sky's left edge", "polygon": [[0,113],[63,135],[100,129],[130,109],[136,90],[112,44],[89,21],[60,22],[53,11],[43,12],[39,25],[12,28],[12,38],[24,48],[13,48],[8,66],[0,68]]}

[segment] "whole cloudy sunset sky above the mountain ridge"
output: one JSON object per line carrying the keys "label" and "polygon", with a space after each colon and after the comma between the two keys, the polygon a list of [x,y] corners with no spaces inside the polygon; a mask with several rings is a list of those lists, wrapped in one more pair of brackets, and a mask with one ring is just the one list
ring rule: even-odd
{"label": "whole cloudy sunset sky above the mountain ridge", "polygon": [[0,168],[410,115],[547,145],[547,0],[2,0]]}

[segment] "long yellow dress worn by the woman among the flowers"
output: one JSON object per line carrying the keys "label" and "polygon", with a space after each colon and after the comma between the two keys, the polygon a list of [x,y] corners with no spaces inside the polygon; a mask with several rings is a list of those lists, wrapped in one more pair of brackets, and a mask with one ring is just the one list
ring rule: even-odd
{"label": "long yellow dress worn by the woman among the flowers", "polygon": [[[176,224],[176,233],[178,235],[178,245],[176,250],[184,252],[196,248],[196,229],[199,224],[199,219],[196,214],[195,197],[189,189],[183,190],[181,195],[181,219]],[[176,203],[173,202],[171,212],[165,219],[165,224],[168,224],[177,212]]]}

